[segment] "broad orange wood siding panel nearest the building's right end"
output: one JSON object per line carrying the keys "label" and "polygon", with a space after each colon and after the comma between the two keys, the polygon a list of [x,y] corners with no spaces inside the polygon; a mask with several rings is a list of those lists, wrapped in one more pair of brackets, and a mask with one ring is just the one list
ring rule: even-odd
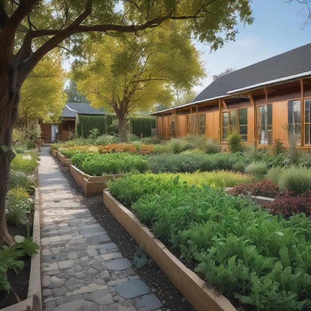
{"label": "broad orange wood siding panel nearest the building's right end", "polygon": [[272,142],[281,140],[284,146],[288,146],[287,131],[283,126],[288,123],[288,102],[279,101],[272,104]]}

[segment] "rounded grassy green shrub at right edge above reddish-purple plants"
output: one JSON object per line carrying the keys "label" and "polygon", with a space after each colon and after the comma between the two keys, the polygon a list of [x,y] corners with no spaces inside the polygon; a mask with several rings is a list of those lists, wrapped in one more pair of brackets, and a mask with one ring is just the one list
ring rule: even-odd
{"label": "rounded grassy green shrub at right edge above reddish-purple plants", "polygon": [[303,194],[311,189],[311,169],[294,166],[284,169],[278,183],[282,190]]}

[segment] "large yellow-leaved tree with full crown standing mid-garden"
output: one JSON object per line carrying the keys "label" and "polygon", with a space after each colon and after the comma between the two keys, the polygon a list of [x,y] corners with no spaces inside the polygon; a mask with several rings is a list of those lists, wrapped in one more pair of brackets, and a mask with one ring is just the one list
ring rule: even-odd
{"label": "large yellow-leaved tree with full crown standing mid-garden", "polygon": [[86,64],[74,66],[78,89],[95,107],[116,113],[120,142],[128,142],[130,113],[167,104],[173,89],[189,90],[204,76],[191,40],[168,21],[139,39],[135,34],[104,37],[87,52]]}

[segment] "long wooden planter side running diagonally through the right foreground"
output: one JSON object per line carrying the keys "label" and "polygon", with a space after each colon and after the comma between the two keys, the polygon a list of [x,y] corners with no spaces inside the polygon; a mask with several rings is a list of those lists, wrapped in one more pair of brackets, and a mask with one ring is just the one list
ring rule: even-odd
{"label": "long wooden planter side running diagonally through the right foreground", "polygon": [[227,298],[222,295],[219,296],[215,289],[209,288],[206,282],[181,263],[107,189],[103,191],[103,202],[120,225],[135,239],[137,244],[143,245],[146,254],[156,262],[196,311],[236,311]]}

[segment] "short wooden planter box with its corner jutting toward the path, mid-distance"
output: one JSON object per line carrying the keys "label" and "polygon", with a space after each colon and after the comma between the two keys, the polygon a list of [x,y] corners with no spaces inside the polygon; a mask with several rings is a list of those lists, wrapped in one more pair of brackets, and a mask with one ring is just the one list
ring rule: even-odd
{"label": "short wooden planter box with its corner jutting toward the path, mid-distance", "polygon": [[123,177],[124,174],[111,174],[103,176],[91,176],[79,170],[76,166],[70,165],[70,172],[77,184],[82,188],[85,197],[89,198],[107,188],[107,180]]}

